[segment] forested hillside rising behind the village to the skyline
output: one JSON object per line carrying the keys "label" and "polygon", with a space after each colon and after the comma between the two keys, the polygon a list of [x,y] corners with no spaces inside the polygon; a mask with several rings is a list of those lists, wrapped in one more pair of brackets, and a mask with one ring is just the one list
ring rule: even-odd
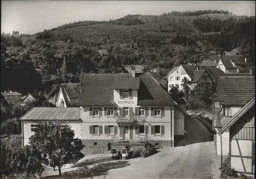
{"label": "forested hillside rising behind the village to the skyline", "polygon": [[131,64],[170,69],[208,59],[212,50],[223,53],[236,47],[254,63],[255,17],[223,12],[127,15],[78,21],[33,35],[3,33],[1,90],[49,91],[54,83],[79,82],[84,73],[125,72],[124,66]]}

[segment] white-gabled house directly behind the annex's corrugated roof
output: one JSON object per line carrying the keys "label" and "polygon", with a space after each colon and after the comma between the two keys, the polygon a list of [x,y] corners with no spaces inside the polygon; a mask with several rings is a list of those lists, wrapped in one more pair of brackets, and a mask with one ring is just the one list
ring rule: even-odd
{"label": "white-gabled house directly behind the annex's corrugated roof", "polygon": [[58,97],[56,99],[56,107],[77,107],[80,90],[80,87],[60,87]]}

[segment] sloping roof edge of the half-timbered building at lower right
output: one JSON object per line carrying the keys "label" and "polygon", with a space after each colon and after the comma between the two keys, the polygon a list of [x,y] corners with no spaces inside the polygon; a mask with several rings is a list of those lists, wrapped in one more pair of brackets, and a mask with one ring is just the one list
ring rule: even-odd
{"label": "sloping roof edge of the half-timbered building at lower right", "polygon": [[[220,134],[223,134],[224,131],[226,129],[228,129],[229,127],[231,127],[236,121],[238,121],[239,119],[241,119],[241,117],[248,111],[251,110],[254,111],[254,115],[255,115],[255,96],[252,97],[247,104],[245,104],[245,106],[243,106],[243,108],[241,108],[238,112],[236,112],[236,114],[234,114],[231,118],[231,120],[229,122],[227,122],[222,129],[220,130]],[[253,116],[254,116],[253,115]]]}

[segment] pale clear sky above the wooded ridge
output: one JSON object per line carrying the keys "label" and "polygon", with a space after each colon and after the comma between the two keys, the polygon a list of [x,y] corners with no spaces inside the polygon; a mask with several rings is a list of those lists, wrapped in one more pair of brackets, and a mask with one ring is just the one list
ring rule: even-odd
{"label": "pale clear sky above the wooded ridge", "polygon": [[1,1],[1,33],[34,34],[82,20],[109,20],[127,14],[217,9],[255,16],[255,1]]}

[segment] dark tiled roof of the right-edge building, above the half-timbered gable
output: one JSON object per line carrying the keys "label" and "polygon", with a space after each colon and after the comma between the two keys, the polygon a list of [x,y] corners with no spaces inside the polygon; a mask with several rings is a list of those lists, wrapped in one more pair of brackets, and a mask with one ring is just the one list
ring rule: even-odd
{"label": "dark tiled roof of the right-edge building, above the half-timbered gable", "polygon": [[215,96],[221,105],[245,105],[255,96],[255,76],[221,76]]}

